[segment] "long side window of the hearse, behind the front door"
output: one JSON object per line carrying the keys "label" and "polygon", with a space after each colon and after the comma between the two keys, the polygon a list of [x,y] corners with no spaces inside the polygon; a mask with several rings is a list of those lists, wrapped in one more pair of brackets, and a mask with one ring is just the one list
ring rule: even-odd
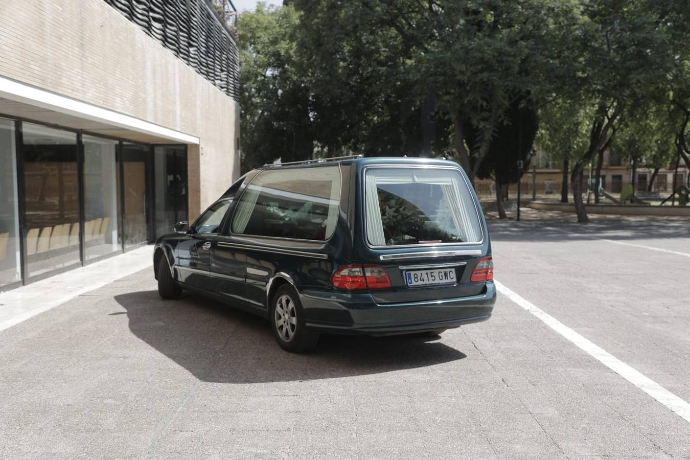
{"label": "long side window of the hearse, behind the front door", "polygon": [[339,166],[264,170],[237,203],[233,233],[325,241],[335,230],[340,182]]}

